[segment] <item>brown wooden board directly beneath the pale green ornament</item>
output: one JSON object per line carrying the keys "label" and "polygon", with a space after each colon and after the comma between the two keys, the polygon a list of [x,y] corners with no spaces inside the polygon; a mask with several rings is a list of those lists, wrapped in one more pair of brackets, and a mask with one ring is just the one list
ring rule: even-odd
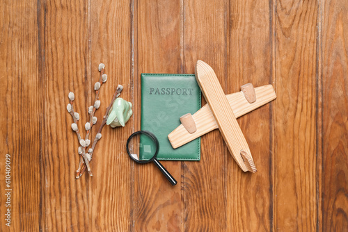
{"label": "brown wooden board directly beneath the pale green ornament", "polygon": [[[132,18],[129,1],[92,1],[91,7],[91,83],[98,77],[99,63],[106,65],[108,79],[102,86],[102,106],[97,112],[97,128],[102,122],[118,84],[124,89],[120,97],[132,99]],[[135,107],[135,106],[134,106]],[[137,117],[138,115],[136,115]],[[90,189],[91,231],[129,231],[132,227],[130,212],[131,161],[125,144],[134,128],[133,119],[125,127],[111,129],[104,126],[102,139],[93,155],[93,179]],[[93,133],[93,137],[95,133]]]}

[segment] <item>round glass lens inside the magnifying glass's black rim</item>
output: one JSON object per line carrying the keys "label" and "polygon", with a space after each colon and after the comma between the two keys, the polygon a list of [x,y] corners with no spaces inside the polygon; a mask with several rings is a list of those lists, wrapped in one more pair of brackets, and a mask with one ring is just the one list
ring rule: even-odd
{"label": "round glass lens inside the magnifying glass's black rim", "polygon": [[146,134],[136,134],[128,144],[129,154],[133,160],[149,161],[155,156],[156,142]]}

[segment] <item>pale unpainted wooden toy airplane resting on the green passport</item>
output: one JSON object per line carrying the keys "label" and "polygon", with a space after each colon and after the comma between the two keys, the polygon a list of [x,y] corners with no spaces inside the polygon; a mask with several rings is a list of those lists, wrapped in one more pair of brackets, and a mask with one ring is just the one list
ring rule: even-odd
{"label": "pale unpainted wooden toy airplane resting on the green passport", "polygon": [[237,117],[276,99],[272,85],[253,88],[251,83],[242,86],[242,92],[225,95],[212,67],[197,61],[196,80],[207,104],[195,114],[180,117],[182,124],[168,135],[175,149],[209,131],[219,129],[230,154],[244,172],[256,172],[253,157],[237,123]]}

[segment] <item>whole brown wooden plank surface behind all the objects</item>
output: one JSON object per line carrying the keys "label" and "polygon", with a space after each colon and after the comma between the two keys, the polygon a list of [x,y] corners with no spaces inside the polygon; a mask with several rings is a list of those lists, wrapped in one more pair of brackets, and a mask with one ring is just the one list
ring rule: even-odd
{"label": "whole brown wooden plank surface behind all the objects", "polygon": [[[11,231],[347,231],[348,1],[3,0],[0,12],[1,231],[6,154]],[[173,188],[125,142],[140,74],[192,74],[197,59],[226,93],[271,83],[278,98],[238,119],[256,174],[214,131],[200,162],[163,162]],[[104,128],[93,178],[76,181],[67,96],[82,129],[101,62],[101,108],[122,84],[134,117]]]}

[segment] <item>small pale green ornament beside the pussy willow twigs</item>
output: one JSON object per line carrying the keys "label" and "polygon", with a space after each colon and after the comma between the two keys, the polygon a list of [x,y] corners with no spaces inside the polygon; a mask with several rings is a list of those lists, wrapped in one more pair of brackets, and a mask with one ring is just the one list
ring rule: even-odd
{"label": "small pale green ornament beside the pussy willow twigs", "polygon": [[132,114],[132,103],[119,97],[113,101],[106,125],[110,125],[112,128],[125,126]]}

